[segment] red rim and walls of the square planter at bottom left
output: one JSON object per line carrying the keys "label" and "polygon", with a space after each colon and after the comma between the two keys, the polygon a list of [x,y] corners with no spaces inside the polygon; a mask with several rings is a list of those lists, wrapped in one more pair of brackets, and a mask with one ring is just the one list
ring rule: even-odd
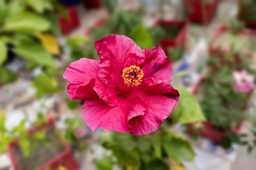
{"label": "red rim and walls of the square planter at bottom left", "polygon": [[[33,128],[28,130],[28,133],[32,135],[34,131],[38,132],[40,130],[44,130],[47,126],[52,126],[52,125],[55,126],[55,121],[53,118],[50,118],[48,123],[45,123],[42,126],[34,126]],[[9,144],[7,148],[9,157],[11,159],[13,170],[20,170],[20,167],[18,166],[14,157],[14,153],[12,151],[12,148],[16,147],[17,145],[18,145],[18,140],[11,142],[11,144]],[[64,148],[65,149],[59,155],[57,155],[56,157],[52,158],[50,161],[38,167],[37,170],[45,170],[46,168],[50,168],[51,170],[56,170],[60,165],[66,167],[69,170],[79,170],[80,167],[75,161],[74,157],[72,156],[69,145],[64,143]],[[34,159],[37,159],[37,158],[34,158]]]}

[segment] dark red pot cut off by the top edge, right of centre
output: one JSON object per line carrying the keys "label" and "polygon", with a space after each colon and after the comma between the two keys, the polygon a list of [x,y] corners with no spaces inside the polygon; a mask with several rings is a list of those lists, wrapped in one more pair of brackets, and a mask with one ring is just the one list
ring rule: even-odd
{"label": "dark red pot cut off by the top edge, right of centre", "polygon": [[209,24],[216,15],[219,0],[211,2],[202,2],[200,0],[190,0],[189,2],[189,20],[195,23]]}

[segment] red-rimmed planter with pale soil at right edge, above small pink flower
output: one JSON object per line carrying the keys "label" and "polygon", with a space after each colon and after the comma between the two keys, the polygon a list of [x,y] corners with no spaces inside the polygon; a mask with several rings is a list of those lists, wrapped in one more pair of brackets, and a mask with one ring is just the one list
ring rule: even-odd
{"label": "red-rimmed planter with pale soil at right edge, above small pink flower", "polygon": [[240,62],[236,55],[252,57],[255,53],[256,31],[244,29],[243,24],[232,20],[231,25],[221,25],[214,33],[210,42],[210,54],[220,57],[220,62],[225,62],[225,56],[231,55],[231,60]]}

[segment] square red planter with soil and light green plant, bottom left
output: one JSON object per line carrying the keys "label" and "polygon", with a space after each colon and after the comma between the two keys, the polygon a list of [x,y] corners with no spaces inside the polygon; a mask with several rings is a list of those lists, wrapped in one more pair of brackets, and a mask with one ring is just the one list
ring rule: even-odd
{"label": "square red planter with soil and light green plant, bottom left", "polygon": [[[14,170],[79,169],[70,148],[55,128],[54,119],[42,115],[29,130],[26,119],[11,131],[4,127],[5,114],[1,114],[1,151],[7,149]],[[35,159],[36,158],[36,159]]]}

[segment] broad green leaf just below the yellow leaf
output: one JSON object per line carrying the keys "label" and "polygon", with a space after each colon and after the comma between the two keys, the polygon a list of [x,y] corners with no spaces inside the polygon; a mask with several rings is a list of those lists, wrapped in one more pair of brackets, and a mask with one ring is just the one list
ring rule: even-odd
{"label": "broad green leaf just below the yellow leaf", "polygon": [[56,67],[53,56],[41,44],[24,43],[13,48],[13,51],[29,62]]}

